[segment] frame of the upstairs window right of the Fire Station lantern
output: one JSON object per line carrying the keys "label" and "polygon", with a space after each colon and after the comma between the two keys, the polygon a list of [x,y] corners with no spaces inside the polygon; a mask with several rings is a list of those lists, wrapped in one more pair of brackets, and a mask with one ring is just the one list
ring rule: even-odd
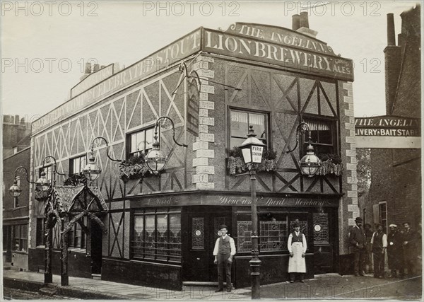
{"label": "frame of the upstairs window right of the Fire Station lantern", "polygon": [[[326,117],[323,115],[312,115],[312,114],[303,114],[300,117],[300,120],[302,122],[306,122],[307,124],[310,124],[311,121],[314,122],[326,122],[329,123],[331,126],[331,140],[332,144],[323,144],[319,143],[317,141],[312,141],[312,146],[314,147],[314,153],[315,155],[323,154],[323,152],[319,152],[319,146],[325,147],[331,147],[333,149],[332,152],[325,152],[330,154],[336,154],[339,155],[339,138],[338,138],[338,118],[337,117]],[[303,148],[300,148],[300,156],[305,156],[306,154],[306,147],[309,144],[309,138],[308,138],[308,132],[305,131],[300,136],[300,146],[303,146]]]}

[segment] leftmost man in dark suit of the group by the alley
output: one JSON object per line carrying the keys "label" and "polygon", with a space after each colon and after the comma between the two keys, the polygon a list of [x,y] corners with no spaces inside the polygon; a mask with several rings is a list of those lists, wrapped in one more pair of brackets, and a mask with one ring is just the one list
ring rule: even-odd
{"label": "leftmost man in dark suit of the group by the alley", "polygon": [[365,268],[365,255],[367,254],[367,238],[365,236],[365,231],[362,227],[362,218],[356,217],[356,225],[351,228],[351,233],[349,234],[349,242],[353,246],[353,265],[355,269],[355,276],[364,276]]}

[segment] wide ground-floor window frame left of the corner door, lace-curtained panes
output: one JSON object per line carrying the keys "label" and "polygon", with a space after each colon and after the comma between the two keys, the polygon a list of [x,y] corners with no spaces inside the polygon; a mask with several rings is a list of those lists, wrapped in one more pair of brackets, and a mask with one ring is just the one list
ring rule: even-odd
{"label": "wide ground-floor window frame left of the corner door, lace-curtained panes", "polygon": [[[136,238],[136,217],[143,217],[143,225],[141,231],[137,231]],[[166,216],[166,231],[164,234],[167,234],[167,238],[164,242],[158,240],[158,216]],[[179,216],[179,236],[174,236],[170,238],[171,231],[171,216]],[[154,228],[151,232],[154,234],[152,241],[146,239],[146,218],[153,217]],[[182,263],[182,209],[177,208],[146,208],[146,209],[137,209],[131,213],[131,240],[130,240],[130,259],[147,261],[147,262],[160,262],[160,263],[173,263],[179,264]],[[140,236],[143,236],[141,240],[138,240]],[[150,236],[149,236],[150,237]],[[173,239],[177,239],[177,242],[172,242]],[[179,241],[179,242],[178,242]],[[148,243],[152,243],[151,246],[148,246]],[[175,248],[178,247],[179,248]],[[138,250],[136,250],[138,249]],[[147,252],[146,252],[147,250]],[[149,254],[153,250],[153,254]],[[160,250],[161,252],[158,252]],[[163,253],[165,251],[165,253]]]}

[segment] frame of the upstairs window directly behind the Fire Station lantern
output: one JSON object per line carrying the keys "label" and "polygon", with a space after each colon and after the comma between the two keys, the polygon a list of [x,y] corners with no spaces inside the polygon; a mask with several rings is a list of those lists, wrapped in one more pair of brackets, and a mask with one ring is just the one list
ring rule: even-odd
{"label": "frame of the upstairs window directly behind the Fire Station lantern", "polygon": [[[245,137],[237,137],[237,136],[232,136],[231,134],[231,128],[232,128],[232,112],[242,112],[242,113],[247,113],[247,129],[246,129],[246,134]],[[269,150],[271,145],[271,131],[270,131],[270,124],[271,124],[271,116],[270,116],[270,112],[269,111],[261,111],[261,110],[252,110],[252,109],[245,109],[245,108],[236,108],[236,107],[232,107],[229,106],[228,107],[228,152],[231,151],[231,139],[234,137],[235,139],[247,139],[247,134],[249,133],[249,114],[254,114],[254,115],[264,115],[264,131],[265,131],[265,138],[262,139],[261,135],[257,132],[255,132],[255,134],[257,134],[257,139],[259,139],[260,141],[262,141],[266,146],[265,149]],[[254,131],[256,131],[255,129],[253,129]]]}

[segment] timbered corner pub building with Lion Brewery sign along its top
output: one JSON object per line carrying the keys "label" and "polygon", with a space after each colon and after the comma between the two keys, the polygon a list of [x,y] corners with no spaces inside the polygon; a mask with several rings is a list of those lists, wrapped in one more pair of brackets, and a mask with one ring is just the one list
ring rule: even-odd
{"label": "timbered corner pub building with Lion Brewery sign along its top", "polygon": [[[81,172],[95,137],[108,141],[112,158],[147,153],[155,122],[164,115],[175,123],[177,141],[188,145],[177,146],[172,128],[161,124],[165,170],[126,182],[119,178],[119,163],[107,158],[106,145],[95,146],[102,173],[92,185],[107,202],[109,211],[101,217],[107,233],[100,235],[90,221],[86,231],[75,227],[69,276],[101,274],[103,280],[176,290],[184,281],[216,281],[212,252],[225,223],[237,248],[232,282],[249,286],[250,178],[230,175],[227,168],[249,125],[276,152],[276,169],[257,173],[261,284],[288,278],[287,240],[295,219],[307,237],[306,277],[348,272],[348,228],[359,216],[353,64],[314,37],[307,16],[293,16],[293,26],[196,29],[126,69],[113,71],[112,64],[96,71],[104,73],[97,80],[89,75],[82,88],[72,88],[69,101],[33,124],[33,179],[49,168],[42,166],[45,156],[57,159],[61,173]],[[305,138],[286,151],[295,146],[302,121],[310,125],[316,153],[341,158],[341,175],[300,173]],[[57,185],[64,178],[57,175]],[[29,269],[42,272],[44,205],[31,202]],[[59,237],[54,249],[53,273],[60,274]]]}

